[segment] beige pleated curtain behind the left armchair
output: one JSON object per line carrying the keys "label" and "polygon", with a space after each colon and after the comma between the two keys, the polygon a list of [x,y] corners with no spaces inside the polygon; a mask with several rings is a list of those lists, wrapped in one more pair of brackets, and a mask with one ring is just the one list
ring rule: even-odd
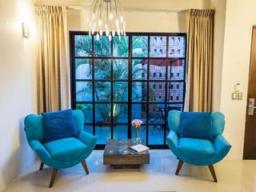
{"label": "beige pleated curtain behind the left armchair", "polygon": [[36,6],[38,113],[70,107],[66,7]]}

